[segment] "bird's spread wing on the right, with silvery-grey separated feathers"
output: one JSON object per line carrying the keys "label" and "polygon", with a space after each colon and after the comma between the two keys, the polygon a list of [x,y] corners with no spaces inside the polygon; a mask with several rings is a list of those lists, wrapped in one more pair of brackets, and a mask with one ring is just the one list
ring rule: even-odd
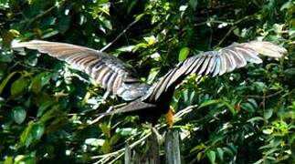
{"label": "bird's spread wing on the right, with silvery-grey separated feathers", "polygon": [[245,67],[247,62],[262,63],[258,54],[279,58],[286,52],[285,48],[270,42],[251,41],[191,56],[161,77],[144,98],[156,101],[159,97],[165,97],[164,93],[170,88],[174,89],[184,77],[191,74],[221,76],[236,68]]}

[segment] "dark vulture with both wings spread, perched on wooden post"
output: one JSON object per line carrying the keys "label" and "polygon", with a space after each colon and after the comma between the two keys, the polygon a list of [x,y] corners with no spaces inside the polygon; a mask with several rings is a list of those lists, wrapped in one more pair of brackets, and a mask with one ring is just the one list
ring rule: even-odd
{"label": "dark vulture with both wings spread, perched on wooden post", "polygon": [[114,113],[136,113],[140,119],[156,123],[161,115],[166,114],[167,124],[173,123],[174,111],[170,101],[175,87],[185,77],[197,74],[200,76],[221,76],[247,63],[262,63],[258,55],[279,58],[287,50],[267,41],[250,41],[234,43],[216,51],[208,51],[190,56],[170,69],[153,85],[148,85],[136,77],[132,67],[119,58],[85,46],[66,43],[32,40],[14,43],[13,48],[35,49],[66,61],[95,80],[105,90],[128,101],[127,105]]}

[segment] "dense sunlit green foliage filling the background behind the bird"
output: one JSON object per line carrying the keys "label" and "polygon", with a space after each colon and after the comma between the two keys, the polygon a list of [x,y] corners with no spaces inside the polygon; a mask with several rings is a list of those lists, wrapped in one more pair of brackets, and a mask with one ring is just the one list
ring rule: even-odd
{"label": "dense sunlit green foliage filling the background behind the bird", "polygon": [[148,83],[187,56],[258,39],[288,54],[187,78],[172,102],[186,113],[173,128],[185,163],[294,163],[294,12],[292,0],[1,0],[0,160],[121,163],[125,144],[142,149],[151,131],[137,117],[100,118],[121,100],[52,57],[13,51],[15,39],[103,48]]}

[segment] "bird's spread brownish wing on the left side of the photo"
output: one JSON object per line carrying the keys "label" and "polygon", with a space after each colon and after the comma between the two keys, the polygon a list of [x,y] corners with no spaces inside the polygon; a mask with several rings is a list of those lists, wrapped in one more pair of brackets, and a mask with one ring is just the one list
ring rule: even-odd
{"label": "bird's spread brownish wing on the left side of the photo", "polygon": [[12,47],[36,49],[66,61],[70,65],[75,65],[94,78],[96,83],[124,100],[142,97],[149,88],[148,85],[134,78],[130,68],[120,59],[85,46],[33,40],[15,43]]}

